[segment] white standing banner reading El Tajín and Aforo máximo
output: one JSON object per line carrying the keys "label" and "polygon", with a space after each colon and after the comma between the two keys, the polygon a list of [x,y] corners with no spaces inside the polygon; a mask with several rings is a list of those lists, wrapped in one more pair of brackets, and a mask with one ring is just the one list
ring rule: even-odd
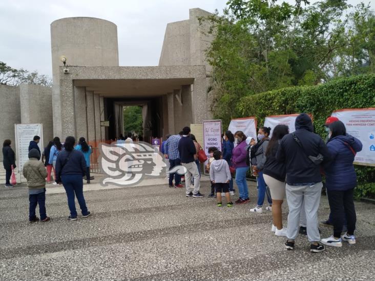
{"label": "white standing banner reading El Taj\u00edn and Aforo m\u00e1ximo", "polygon": [[203,121],[203,145],[207,158],[210,158],[210,147],[215,146],[221,151],[221,120]]}

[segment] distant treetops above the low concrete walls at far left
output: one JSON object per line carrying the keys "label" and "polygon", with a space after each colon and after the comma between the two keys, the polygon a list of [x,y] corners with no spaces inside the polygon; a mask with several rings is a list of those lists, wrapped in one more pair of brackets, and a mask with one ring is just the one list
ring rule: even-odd
{"label": "distant treetops above the low concrete walls at far left", "polygon": [[29,72],[24,69],[14,69],[0,61],[0,84],[18,86],[22,83],[51,87],[52,79],[47,75],[39,75],[37,71]]}

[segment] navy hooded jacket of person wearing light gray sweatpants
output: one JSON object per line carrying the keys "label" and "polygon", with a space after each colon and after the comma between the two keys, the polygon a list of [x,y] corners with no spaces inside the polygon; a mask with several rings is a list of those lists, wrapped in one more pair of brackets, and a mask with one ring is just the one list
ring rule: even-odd
{"label": "navy hooded jacket of person wearing light gray sweatpants", "polygon": [[277,161],[286,167],[286,182],[288,185],[313,185],[322,181],[320,165],[316,165],[308,156],[322,154],[323,163],[330,160],[330,153],[322,138],[314,134],[311,118],[301,113],[295,122],[295,135],[300,140],[302,147],[293,138],[292,134],[285,135],[276,153]]}

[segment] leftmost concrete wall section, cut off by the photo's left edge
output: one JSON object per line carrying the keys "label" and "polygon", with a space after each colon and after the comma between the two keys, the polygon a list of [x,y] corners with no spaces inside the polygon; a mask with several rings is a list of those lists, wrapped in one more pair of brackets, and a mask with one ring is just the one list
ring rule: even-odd
{"label": "leftmost concrete wall section, cut off by the photo's left edge", "polygon": [[[12,148],[15,150],[14,124],[21,122],[19,88],[7,85],[0,85],[0,141],[12,141]],[[3,161],[3,154],[0,154],[0,161]]]}

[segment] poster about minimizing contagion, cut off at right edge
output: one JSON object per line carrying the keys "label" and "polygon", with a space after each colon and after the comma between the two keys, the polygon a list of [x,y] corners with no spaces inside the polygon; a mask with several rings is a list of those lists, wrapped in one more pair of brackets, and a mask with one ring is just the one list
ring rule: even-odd
{"label": "poster about minimizing contagion, cut off at right edge", "polygon": [[342,109],[332,113],[345,124],[346,133],[362,142],[355,164],[375,166],[375,108]]}

